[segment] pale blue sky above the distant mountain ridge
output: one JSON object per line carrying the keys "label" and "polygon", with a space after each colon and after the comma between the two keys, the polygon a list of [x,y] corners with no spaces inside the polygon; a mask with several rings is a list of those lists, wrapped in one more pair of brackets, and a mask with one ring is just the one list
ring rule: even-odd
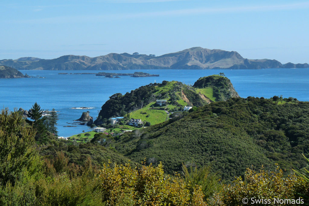
{"label": "pale blue sky above the distant mountain ridge", "polygon": [[309,1],[1,1],[0,59],[200,46],[309,63]]}

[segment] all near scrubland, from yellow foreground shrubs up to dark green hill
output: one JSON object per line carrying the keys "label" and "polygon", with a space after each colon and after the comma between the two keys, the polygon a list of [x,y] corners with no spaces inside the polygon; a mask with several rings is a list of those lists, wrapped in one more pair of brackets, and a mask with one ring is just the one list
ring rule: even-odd
{"label": "all near scrubland, from yellow foreground shrubs up to dark green hill", "polygon": [[290,170],[307,163],[308,109],[293,98],[232,98],[79,145],[55,139],[37,103],[34,121],[4,109],[0,204],[236,206],[248,197],[308,203],[308,176]]}

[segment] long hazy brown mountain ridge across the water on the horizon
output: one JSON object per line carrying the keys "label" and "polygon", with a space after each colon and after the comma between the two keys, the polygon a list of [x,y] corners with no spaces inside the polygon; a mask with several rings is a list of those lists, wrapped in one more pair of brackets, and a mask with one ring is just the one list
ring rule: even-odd
{"label": "long hazy brown mountain ridge across the water on the horizon", "polygon": [[[135,54],[135,53],[134,53]],[[122,69],[267,69],[308,68],[309,65],[270,59],[246,59],[235,51],[193,47],[158,57],[146,54],[110,53],[99,57],[66,55],[56,59],[21,57],[0,60],[15,69],[36,70],[122,70]]]}

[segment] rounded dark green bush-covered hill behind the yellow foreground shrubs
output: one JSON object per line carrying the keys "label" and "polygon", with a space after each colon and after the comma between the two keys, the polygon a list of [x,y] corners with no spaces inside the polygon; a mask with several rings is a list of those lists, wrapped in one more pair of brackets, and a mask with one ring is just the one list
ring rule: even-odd
{"label": "rounded dark green bush-covered hill behind the yellow foreground shrubs", "polygon": [[115,147],[137,162],[162,161],[167,173],[180,171],[182,162],[211,164],[222,178],[274,162],[301,168],[306,165],[301,153],[309,148],[309,103],[278,101],[248,97],[211,103],[140,134],[124,134]]}

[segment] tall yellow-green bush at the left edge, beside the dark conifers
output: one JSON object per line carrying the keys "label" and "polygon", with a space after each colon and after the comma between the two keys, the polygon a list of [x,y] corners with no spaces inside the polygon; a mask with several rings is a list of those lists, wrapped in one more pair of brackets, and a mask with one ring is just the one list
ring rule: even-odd
{"label": "tall yellow-green bush at the left edge, beside the dark conifers", "polygon": [[18,112],[4,109],[0,113],[0,185],[19,179],[24,169],[29,169],[36,152],[33,146],[35,131],[24,127]]}

